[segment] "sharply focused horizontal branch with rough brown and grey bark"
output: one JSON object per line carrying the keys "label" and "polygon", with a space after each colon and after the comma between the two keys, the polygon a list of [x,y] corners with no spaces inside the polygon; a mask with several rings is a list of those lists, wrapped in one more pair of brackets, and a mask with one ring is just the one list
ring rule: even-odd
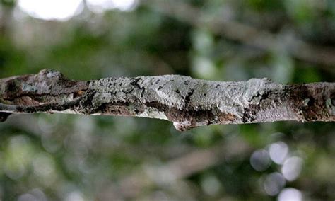
{"label": "sharply focused horizontal branch with rough brown and grey bark", "polygon": [[177,130],[212,124],[335,121],[335,84],[223,82],[188,76],[72,81],[58,71],[0,79],[0,121],[11,113],[151,117]]}

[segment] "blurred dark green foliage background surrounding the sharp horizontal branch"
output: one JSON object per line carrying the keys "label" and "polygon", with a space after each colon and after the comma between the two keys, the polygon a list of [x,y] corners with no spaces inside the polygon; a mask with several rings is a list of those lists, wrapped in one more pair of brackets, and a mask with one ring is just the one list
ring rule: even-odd
{"label": "blurred dark green foliage background surrounding the sharp horizontal branch", "polygon": [[[332,0],[99,2],[1,0],[0,77],[335,78]],[[0,200],[334,200],[334,154],[330,122],[180,133],[163,120],[12,115]]]}

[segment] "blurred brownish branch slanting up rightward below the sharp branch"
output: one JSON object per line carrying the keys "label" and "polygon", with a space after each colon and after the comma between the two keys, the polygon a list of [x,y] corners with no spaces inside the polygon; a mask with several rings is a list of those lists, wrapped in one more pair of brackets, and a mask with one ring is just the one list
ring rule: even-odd
{"label": "blurred brownish branch slanting up rightward below the sharp branch", "polygon": [[177,159],[167,161],[162,166],[146,164],[123,178],[119,182],[117,193],[128,199],[139,197],[144,189],[173,184],[177,180],[217,166],[224,161],[237,157],[242,159],[251,151],[252,147],[237,137],[234,138],[234,143],[220,142],[209,149],[191,151]]}

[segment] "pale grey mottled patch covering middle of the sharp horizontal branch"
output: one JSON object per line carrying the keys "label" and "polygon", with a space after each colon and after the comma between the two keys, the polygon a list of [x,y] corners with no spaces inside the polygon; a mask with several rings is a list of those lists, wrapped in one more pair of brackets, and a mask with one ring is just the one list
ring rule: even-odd
{"label": "pale grey mottled patch covering middle of the sharp horizontal branch", "polygon": [[[90,89],[95,91],[93,96],[94,109],[104,103],[128,103],[129,115],[153,117],[171,120],[179,130],[200,125],[218,123],[242,123],[245,108],[249,105],[258,105],[261,96],[267,91],[281,91],[281,84],[274,84],[269,79],[250,79],[240,82],[220,82],[192,79],[188,76],[142,76],[136,78],[114,78],[91,81]],[[160,103],[150,106],[146,103]],[[111,104],[112,105],[112,104]],[[162,105],[167,110],[163,110]],[[280,104],[275,104],[277,106]],[[281,110],[284,107],[279,108]],[[277,110],[272,107],[272,110]],[[270,109],[270,110],[271,110]],[[206,111],[212,113],[212,118],[199,118],[201,121],[192,121],[189,118],[172,118],[167,115],[169,110]],[[92,110],[90,110],[92,111]],[[105,113],[98,110],[98,114]],[[259,113],[253,122],[274,120],[298,120],[291,110],[282,113]],[[108,112],[107,112],[108,114]],[[201,114],[200,114],[201,115]],[[219,118],[220,115],[228,116]],[[266,118],[266,119],[265,119]],[[248,120],[247,120],[248,121]]]}

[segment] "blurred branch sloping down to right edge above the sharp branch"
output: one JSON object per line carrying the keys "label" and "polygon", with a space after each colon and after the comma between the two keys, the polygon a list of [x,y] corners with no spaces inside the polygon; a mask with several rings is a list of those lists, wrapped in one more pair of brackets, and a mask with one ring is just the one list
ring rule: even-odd
{"label": "blurred branch sloping down to right edge above the sharp branch", "polygon": [[182,1],[143,1],[143,4],[152,8],[154,11],[164,13],[167,16],[176,18],[184,23],[189,23],[195,27],[208,28],[213,33],[223,35],[230,40],[237,40],[247,45],[260,48],[261,50],[274,50],[274,47],[285,46],[285,51],[297,59],[306,62],[323,64],[324,69],[334,72],[332,67],[335,65],[335,49],[318,47],[308,44],[298,38],[289,38],[283,44],[283,40],[278,40],[278,35],[269,33],[266,30],[258,30],[250,25],[237,21],[230,21],[224,15],[217,18],[208,19],[204,13],[192,5]]}

